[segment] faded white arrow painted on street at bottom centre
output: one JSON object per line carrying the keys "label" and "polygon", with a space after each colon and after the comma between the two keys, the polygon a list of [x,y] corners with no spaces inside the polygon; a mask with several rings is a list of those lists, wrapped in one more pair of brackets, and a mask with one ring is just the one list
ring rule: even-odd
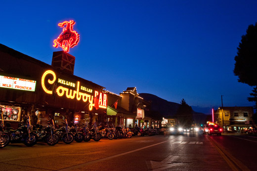
{"label": "faded white arrow painted on street at bottom centre", "polygon": [[163,171],[165,169],[181,165],[183,163],[174,163],[173,161],[178,158],[179,156],[173,156],[170,155],[166,157],[163,161],[161,162],[156,162],[156,161],[150,161],[150,164],[147,164],[148,170],[151,171]]}

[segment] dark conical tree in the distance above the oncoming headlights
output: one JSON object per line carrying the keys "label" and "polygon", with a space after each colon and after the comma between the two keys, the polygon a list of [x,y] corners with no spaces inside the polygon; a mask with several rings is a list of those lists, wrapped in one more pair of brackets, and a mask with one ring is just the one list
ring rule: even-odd
{"label": "dark conical tree in the distance above the oncoming headlights", "polygon": [[179,124],[185,127],[190,127],[193,123],[193,109],[185,102],[184,99],[180,102],[175,116]]}

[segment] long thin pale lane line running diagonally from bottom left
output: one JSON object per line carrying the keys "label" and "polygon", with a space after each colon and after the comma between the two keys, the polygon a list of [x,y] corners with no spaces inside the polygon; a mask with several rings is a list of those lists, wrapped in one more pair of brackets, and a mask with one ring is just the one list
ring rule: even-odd
{"label": "long thin pale lane line running diagonally from bottom left", "polygon": [[[171,140],[173,140],[173,139],[171,139]],[[94,161],[91,161],[91,162],[82,163],[82,164],[79,164],[79,165],[67,167],[67,168],[64,168],[64,169],[57,170],[57,171],[72,171],[72,170],[77,169],[77,168],[81,168],[81,167],[84,167],[84,166],[87,166],[87,165],[90,165],[90,164],[94,164],[94,163],[97,163],[97,162],[109,160],[109,159],[112,159],[112,158],[115,158],[115,157],[123,156],[123,155],[129,154],[129,153],[133,153],[133,152],[136,152],[136,151],[139,151],[139,150],[143,150],[145,148],[149,148],[149,147],[152,147],[152,146],[155,146],[155,145],[159,145],[159,144],[171,141],[171,140],[166,140],[166,141],[159,142],[159,143],[156,143],[156,144],[153,144],[153,145],[148,145],[148,146],[145,146],[145,147],[142,147],[142,148],[131,150],[131,151],[128,151],[128,152],[125,152],[125,153],[116,154],[114,156],[105,157],[105,158],[94,160]]]}

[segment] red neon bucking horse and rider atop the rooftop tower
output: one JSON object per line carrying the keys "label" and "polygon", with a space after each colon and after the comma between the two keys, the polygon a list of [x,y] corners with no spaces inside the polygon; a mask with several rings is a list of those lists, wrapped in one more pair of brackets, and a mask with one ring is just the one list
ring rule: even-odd
{"label": "red neon bucking horse and rider atop the rooftop tower", "polygon": [[59,45],[63,51],[69,52],[70,48],[78,45],[78,42],[80,41],[80,34],[73,30],[75,21],[64,21],[63,23],[58,24],[60,27],[64,27],[65,25],[66,27],[63,28],[62,33],[53,41],[53,47],[57,48]]}

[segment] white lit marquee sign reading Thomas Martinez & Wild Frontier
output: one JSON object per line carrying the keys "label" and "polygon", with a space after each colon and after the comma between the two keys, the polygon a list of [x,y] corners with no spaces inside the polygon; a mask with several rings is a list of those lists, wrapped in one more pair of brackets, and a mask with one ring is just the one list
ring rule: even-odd
{"label": "white lit marquee sign reading Thomas Martinez & Wild Frontier", "polygon": [[0,87],[35,92],[34,80],[0,75]]}

